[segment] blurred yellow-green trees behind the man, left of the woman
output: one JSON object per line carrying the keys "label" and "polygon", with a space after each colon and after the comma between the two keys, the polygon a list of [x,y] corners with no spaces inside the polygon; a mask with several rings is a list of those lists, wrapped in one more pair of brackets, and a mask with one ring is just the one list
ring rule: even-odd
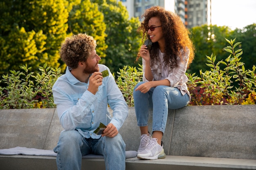
{"label": "blurred yellow-green trees behind the man, left of the woman", "polygon": [[141,45],[139,18],[117,0],[2,0],[0,2],[0,74],[20,66],[61,67],[59,49],[67,36],[87,33],[97,40],[101,64],[113,73],[134,63]]}

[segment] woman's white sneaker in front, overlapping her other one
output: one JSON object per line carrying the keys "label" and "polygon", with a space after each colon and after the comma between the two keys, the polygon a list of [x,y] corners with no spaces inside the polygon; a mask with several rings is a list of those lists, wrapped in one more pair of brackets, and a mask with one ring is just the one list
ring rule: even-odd
{"label": "woman's white sneaker in front, overlapping her other one", "polygon": [[[147,144],[146,149],[141,151],[138,155],[138,159],[158,159],[158,156],[164,153],[163,146],[157,143],[156,138],[152,138],[150,143]],[[162,157],[164,158],[164,157]]]}

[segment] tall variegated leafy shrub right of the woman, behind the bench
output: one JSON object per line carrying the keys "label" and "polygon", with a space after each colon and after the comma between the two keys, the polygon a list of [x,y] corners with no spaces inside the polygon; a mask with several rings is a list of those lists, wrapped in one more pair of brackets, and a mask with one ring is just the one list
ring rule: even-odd
{"label": "tall variegated leafy shrub right of the woman, behind the bench", "polygon": [[[225,61],[221,60],[215,64],[216,56],[207,56],[207,66],[210,67],[210,71],[202,73],[200,70],[201,77],[187,74],[189,81],[193,82],[193,84],[188,83],[192,93],[190,105],[243,104],[247,95],[254,92],[255,66],[252,71],[245,70],[244,63],[240,62],[243,51],[235,50],[241,42],[235,43],[235,40],[226,39],[230,46],[225,47],[224,50],[230,55]],[[220,64],[225,65],[223,70],[220,69]]]}

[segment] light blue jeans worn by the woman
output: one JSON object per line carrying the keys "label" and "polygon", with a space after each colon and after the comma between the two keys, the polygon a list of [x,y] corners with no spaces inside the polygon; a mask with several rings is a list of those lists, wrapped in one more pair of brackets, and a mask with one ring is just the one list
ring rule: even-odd
{"label": "light blue jeans worn by the woman", "polygon": [[[139,82],[134,89],[140,84]],[[157,86],[147,93],[133,91],[135,114],[138,126],[148,126],[148,110],[153,108],[152,131],[164,133],[168,116],[168,108],[178,109],[189,104],[189,96],[182,95],[180,90],[170,86]]]}

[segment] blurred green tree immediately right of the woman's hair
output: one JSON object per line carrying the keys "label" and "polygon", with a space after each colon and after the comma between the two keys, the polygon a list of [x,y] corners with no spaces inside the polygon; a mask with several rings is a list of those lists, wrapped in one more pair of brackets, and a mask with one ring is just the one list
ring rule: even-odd
{"label": "blurred green tree immediately right of the woman's hair", "polygon": [[190,31],[196,53],[195,59],[188,69],[189,73],[200,75],[200,70],[204,72],[208,69],[207,65],[205,65],[207,63],[206,55],[216,55],[217,60],[225,60],[227,58],[227,53],[223,50],[223,46],[227,45],[225,38],[229,39],[232,33],[232,30],[227,26],[202,25],[195,26]]}

